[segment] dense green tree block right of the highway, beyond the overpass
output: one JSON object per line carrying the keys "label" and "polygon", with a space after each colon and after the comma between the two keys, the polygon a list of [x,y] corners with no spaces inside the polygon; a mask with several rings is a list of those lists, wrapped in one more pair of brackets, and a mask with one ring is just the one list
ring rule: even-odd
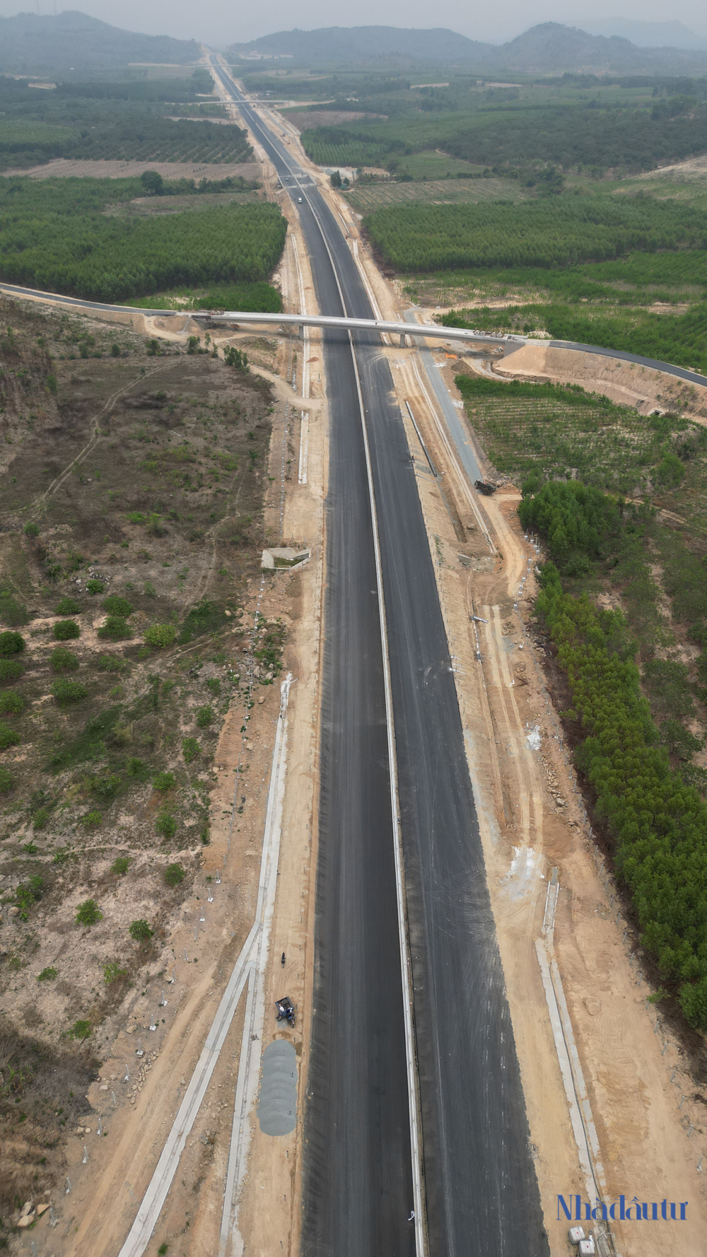
{"label": "dense green tree block right of the highway, beyond the overpass", "polygon": [[629,250],[707,248],[704,215],[643,196],[564,196],[521,204],[399,205],[365,220],[396,270],[565,266]]}

